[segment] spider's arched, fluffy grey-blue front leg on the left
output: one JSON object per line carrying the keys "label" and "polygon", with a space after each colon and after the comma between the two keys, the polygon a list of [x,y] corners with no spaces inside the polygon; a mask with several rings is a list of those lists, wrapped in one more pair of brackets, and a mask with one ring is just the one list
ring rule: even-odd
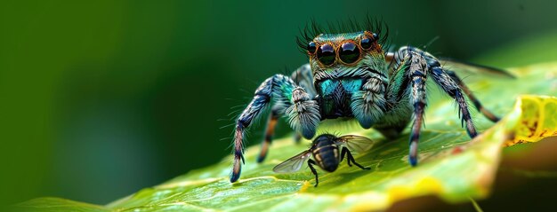
{"label": "spider's arched, fluffy grey-blue front leg on the left", "polygon": [[246,129],[268,108],[271,98],[275,100],[274,112],[286,112],[291,126],[304,137],[315,135],[320,122],[319,106],[303,88],[297,87],[285,75],[273,75],[255,90],[255,95],[246,109],[240,114],[234,131],[234,161],[230,182],[238,181],[241,164],[244,163],[244,137]]}

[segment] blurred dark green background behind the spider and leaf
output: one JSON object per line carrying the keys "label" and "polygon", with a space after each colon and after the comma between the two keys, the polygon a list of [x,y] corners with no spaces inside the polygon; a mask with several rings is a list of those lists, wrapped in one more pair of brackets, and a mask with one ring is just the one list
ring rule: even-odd
{"label": "blurred dark green background behind the spider and leaf", "polygon": [[230,107],[306,61],[295,35],[311,19],[369,14],[389,25],[394,44],[439,36],[428,48],[437,55],[515,67],[557,59],[555,8],[549,0],[2,1],[1,203],[105,204],[222,161],[232,129],[220,128],[242,109]]}

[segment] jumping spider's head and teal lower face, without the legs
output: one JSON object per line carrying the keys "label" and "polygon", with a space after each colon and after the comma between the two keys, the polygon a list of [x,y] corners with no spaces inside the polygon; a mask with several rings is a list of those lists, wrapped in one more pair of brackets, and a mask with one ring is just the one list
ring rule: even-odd
{"label": "jumping spider's head and teal lower face, without the legs", "polygon": [[322,119],[355,117],[367,129],[383,116],[388,73],[376,41],[376,34],[364,31],[322,34],[308,45]]}

